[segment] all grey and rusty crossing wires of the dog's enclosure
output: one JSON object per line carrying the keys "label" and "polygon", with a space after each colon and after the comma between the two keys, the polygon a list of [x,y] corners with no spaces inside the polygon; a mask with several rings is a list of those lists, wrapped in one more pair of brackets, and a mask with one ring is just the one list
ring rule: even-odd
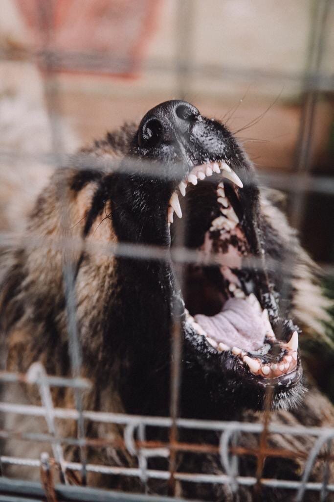
{"label": "all grey and rusty crossing wires of the dog's enclosure", "polygon": [[[191,30],[189,29],[189,23],[192,19],[192,2],[187,0],[187,2],[180,4],[180,9],[178,12],[177,20],[181,23],[183,30],[179,30],[181,35],[177,44],[177,65],[175,68],[168,67],[165,64],[161,65],[158,61],[149,61],[144,68],[147,71],[168,71],[176,72],[178,79],[178,93],[179,97],[184,97],[187,89],[187,83],[189,78],[205,71],[208,76],[213,78],[221,78],[222,70],[224,70],[224,77],[229,79],[249,79],[261,77],[265,81],[275,82],[280,81],[290,81],[290,82],[303,82],[304,99],[302,106],[302,114],[300,120],[299,129],[299,146],[298,155],[296,161],[296,175],[293,178],[296,183],[291,183],[291,176],[289,179],[282,175],[262,175],[263,181],[268,183],[270,186],[275,186],[275,183],[281,188],[282,186],[293,193],[293,211],[292,217],[296,228],[300,227],[300,217],[302,214],[302,207],[304,203],[304,194],[307,190],[318,190],[323,193],[332,193],[333,186],[331,179],[325,179],[324,177],[312,178],[312,184],[310,183],[310,176],[308,174],[308,169],[310,167],[309,159],[309,145],[312,139],[312,117],[314,114],[314,109],[316,106],[316,101],[318,93],[324,90],[332,90],[334,87],[334,82],[332,76],[322,74],[320,71],[320,60],[321,60],[321,50],[323,47],[323,40],[325,38],[325,19],[328,9],[330,8],[330,0],[321,0],[317,3],[316,15],[313,18],[313,27],[311,32],[313,34],[313,43],[310,44],[309,60],[310,64],[303,74],[294,74],[291,72],[266,72],[259,75],[257,72],[250,70],[241,70],[238,68],[218,68],[207,65],[203,67],[197,67],[191,62],[191,44],[189,42],[189,37]],[[84,68],[87,71],[113,71],[113,70],[124,70],[128,68],[128,61],[119,60],[114,57],[114,55],[101,55],[101,54],[91,54],[91,53],[70,53],[70,52],[54,52],[52,50],[50,40],[52,39],[52,2],[48,0],[43,2],[40,0],[40,15],[41,15],[41,31],[45,34],[44,37],[44,47],[38,51],[22,51],[13,49],[11,51],[1,51],[0,57],[9,60],[18,60],[20,58],[29,59],[35,61],[39,64],[43,71],[45,72],[45,96],[48,103],[48,110],[50,115],[50,122],[52,128],[52,138],[53,138],[53,151],[49,156],[43,156],[44,161],[47,164],[52,164],[56,167],[61,166],[76,166],[78,168],[84,168],[86,164],[92,168],[92,165],[101,168],[101,165],[97,165],[99,161],[92,159],[91,157],[86,158],[81,155],[80,158],[76,156],[65,156],[63,154],[61,129],[59,126],[59,88],[57,83],[57,72],[63,69],[75,69]],[[188,26],[188,28],[186,28]],[[2,152],[0,154],[0,162],[8,161],[8,158],[18,157],[15,152]],[[38,157],[38,156],[37,156]],[[24,156],[26,160],[27,156]],[[92,164],[93,163],[93,164]],[[96,163],[96,164],[95,164]],[[103,166],[105,168],[105,166]],[[127,166],[128,167],[128,166]],[[117,169],[118,166],[113,166],[109,163],[109,169]],[[124,166],[122,167],[124,168]],[[137,166],[135,164],[131,165],[129,162],[129,170],[136,170]],[[143,175],[150,172],[151,166],[147,167],[147,171],[143,172],[143,166],[141,166],[141,172]],[[156,175],[155,171],[155,175]],[[65,191],[64,191],[65,192]],[[64,201],[66,202],[66,201]],[[66,208],[66,204],[63,204]],[[49,434],[28,434],[20,433],[18,431],[8,431],[0,430],[0,437],[2,438],[16,438],[24,441],[48,441],[51,445],[77,445],[80,448],[80,463],[66,462],[63,460],[62,456],[59,454],[59,450],[54,450],[54,458],[49,458],[47,455],[43,454],[43,457],[39,460],[33,459],[15,459],[11,457],[0,457],[1,463],[12,463],[18,465],[30,465],[41,469],[41,479],[47,493],[48,502],[56,502],[56,494],[54,490],[54,483],[52,480],[51,467],[55,466],[60,471],[64,473],[64,463],[65,471],[76,470],[81,473],[81,483],[84,485],[86,482],[87,471],[91,472],[105,472],[109,474],[125,474],[138,476],[143,480],[144,483],[153,477],[167,479],[169,482],[169,494],[175,495],[175,482],[176,480],[188,480],[194,482],[222,482],[229,483],[232,489],[237,490],[238,485],[254,485],[255,490],[258,493],[259,500],[261,499],[261,487],[262,486],[276,486],[285,487],[290,489],[297,489],[297,499],[302,500],[303,494],[306,489],[316,489],[320,493],[320,499],[325,500],[326,493],[329,491],[334,492],[334,485],[329,485],[328,483],[328,465],[329,462],[334,460],[334,455],[330,454],[330,446],[332,438],[334,437],[334,429],[322,429],[316,431],[315,428],[303,428],[303,427],[277,427],[270,424],[270,403],[271,403],[271,393],[272,390],[266,395],[266,406],[265,412],[263,414],[262,424],[245,424],[245,423],[222,423],[222,422],[210,422],[210,421],[196,421],[190,420],[186,421],[184,419],[179,419],[179,387],[180,387],[180,362],[181,362],[181,336],[180,336],[180,326],[178,323],[173,325],[173,347],[172,347],[172,381],[171,381],[171,406],[170,406],[170,418],[157,418],[157,417],[131,417],[126,415],[116,414],[104,414],[99,412],[87,412],[83,409],[82,402],[82,392],[87,390],[90,384],[80,378],[81,375],[81,348],[78,340],[76,317],[75,317],[75,296],[74,296],[74,272],[73,264],[69,259],[69,253],[66,253],[67,245],[69,249],[73,249],[73,245],[82,246],[82,242],[75,241],[67,235],[67,214],[66,209],[64,209],[64,214],[62,218],[62,226],[64,229],[63,238],[53,245],[61,246],[64,251],[64,287],[66,292],[66,305],[68,314],[68,333],[70,338],[69,350],[70,359],[72,365],[72,379],[60,378],[58,376],[49,376],[40,372],[35,374],[32,378],[32,373],[27,375],[16,375],[8,372],[0,372],[0,381],[2,382],[20,382],[20,383],[34,383],[38,384],[41,391],[41,396],[44,393],[43,406],[21,406],[8,403],[0,403],[0,412],[14,411],[16,413],[27,413],[36,416],[44,416],[50,422]],[[182,233],[182,232],[181,232]],[[8,234],[0,235],[1,242],[3,246],[11,241],[11,238],[15,240],[15,236]],[[7,237],[7,240],[6,240]],[[188,263],[191,260],[198,263],[198,255],[191,255],[189,251],[182,246],[182,237],[180,239],[180,246],[172,251],[173,259],[179,260],[179,263]],[[22,241],[22,237],[21,242]],[[29,242],[26,245],[35,245],[38,241],[38,237],[30,236]],[[70,243],[69,243],[70,242]],[[45,239],[43,239],[43,245],[51,245],[51,242],[46,244]],[[86,245],[86,244],[85,244]],[[94,244],[87,244],[92,246],[91,252],[96,252],[97,247],[94,248]],[[151,246],[152,247],[152,246]],[[150,246],[131,246],[131,245],[118,245],[116,246],[106,246],[101,249],[99,246],[100,253],[117,254],[117,253],[128,253],[130,256],[137,256],[138,258],[150,257],[156,258],[159,256],[162,260],[170,260],[169,255],[167,256],[166,250],[150,248]],[[214,255],[211,256],[212,263],[214,263]],[[261,264],[256,262],[256,267]],[[273,268],[277,267],[277,262],[269,264]],[[281,264],[280,264],[281,265]],[[268,264],[266,264],[268,266]],[[293,264],[286,262],[282,265],[284,271],[287,274],[291,272]],[[329,270],[329,269],[328,269]],[[332,271],[333,272],[333,271]],[[51,394],[50,386],[66,386],[73,388],[75,392],[76,409],[75,410],[59,410],[53,408],[53,403],[50,401]],[[45,394],[47,393],[47,394]],[[51,413],[51,415],[50,415]],[[76,438],[62,438],[57,433],[55,428],[54,418],[74,418],[78,423],[78,436]],[[105,420],[106,422],[120,423],[125,426],[124,438],[118,441],[107,441],[105,439],[90,439],[85,436],[85,420]],[[147,425],[156,425],[161,427],[170,428],[169,442],[162,441],[148,441],[145,439],[145,427]],[[248,427],[247,427],[248,426]],[[185,443],[178,441],[178,428],[179,427],[194,427],[206,428],[209,430],[217,430],[221,433],[221,441],[219,445],[210,444],[195,444],[195,443]],[[139,431],[139,439],[135,439],[135,431]],[[251,431],[253,433],[259,434],[259,447],[258,448],[243,448],[237,445],[237,438],[235,434],[240,431]],[[292,451],[288,449],[275,449],[271,448],[267,444],[267,439],[270,434],[274,432],[279,432],[281,434],[310,434],[314,435],[316,438],[312,450],[307,452]],[[224,436],[225,434],[225,436]],[[231,444],[230,444],[231,443]],[[327,452],[321,453],[320,449],[323,444],[327,445]],[[86,446],[92,446],[95,448],[101,448],[105,446],[113,446],[115,448],[120,448],[129,451],[138,459],[138,468],[121,468],[112,466],[94,466],[87,464],[86,459]],[[200,473],[181,473],[177,471],[176,465],[176,452],[192,452],[192,453],[214,453],[220,455],[222,465],[225,468],[226,475],[209,475]],[[56,452],[56,453],[55,453]],[[169,471],[152,471],[147,468],[147,458],[152,455],[152,452],[157,456],[169,458]],[[167,453],[166,453],[167,452]],[[237,457],[243,455],[251,455],[256,458],[257,469],[254,478],[243,478],[238,474],[238,464]],[[287,481],[287,480],[268,480],[262,478],[262,467],[263,462],[266,457],[285,457],[285,458],[300,458],[306,460],[306,466],[301,479],[301,482]],[[324,475],[322,483],[311,483],[308,482],[308,477],[313,466],[315,459],[324,460]],[[0,463],[0,465],[1,465]],[[1,472],[0,472],[1,476]],[[64,473],[63,482],[66,483],[67,474]],[[1,479],[1,478],[0,478]]]}

